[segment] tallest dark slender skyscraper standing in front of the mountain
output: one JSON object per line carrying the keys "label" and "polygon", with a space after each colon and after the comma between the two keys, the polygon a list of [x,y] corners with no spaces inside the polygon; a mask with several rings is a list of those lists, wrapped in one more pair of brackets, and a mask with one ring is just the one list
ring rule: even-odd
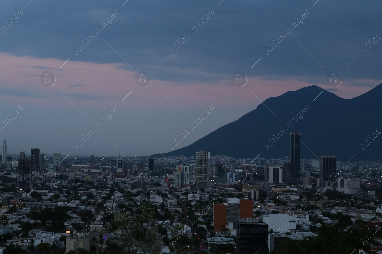
{"label": "tallest dark slender skyscraper standing in front of the mountain", "polygon": [[289,172],[290,181],[287,184],[298,184],[300,179],[300,132],[291,131],[290,132],[290,163],[291,170]]}

